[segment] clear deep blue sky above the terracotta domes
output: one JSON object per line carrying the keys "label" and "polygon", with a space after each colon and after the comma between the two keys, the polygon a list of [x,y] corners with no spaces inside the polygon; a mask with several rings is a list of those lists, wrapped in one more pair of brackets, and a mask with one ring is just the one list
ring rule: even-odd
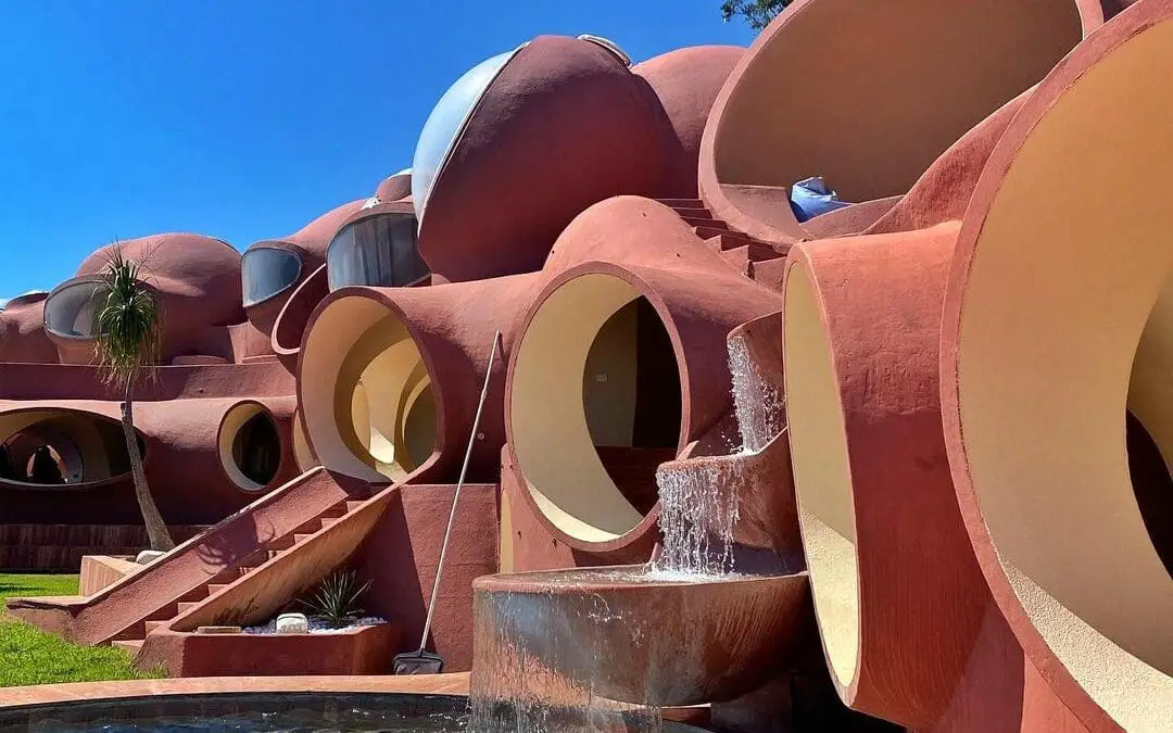
{"label": "clear deep blue sky above the terracotta domes", "polygon": [[753,38],[720,0],[0,2],[0,296],[115,237],[238,249],[411,165],[448,84],[542,33],[636,61]]}

